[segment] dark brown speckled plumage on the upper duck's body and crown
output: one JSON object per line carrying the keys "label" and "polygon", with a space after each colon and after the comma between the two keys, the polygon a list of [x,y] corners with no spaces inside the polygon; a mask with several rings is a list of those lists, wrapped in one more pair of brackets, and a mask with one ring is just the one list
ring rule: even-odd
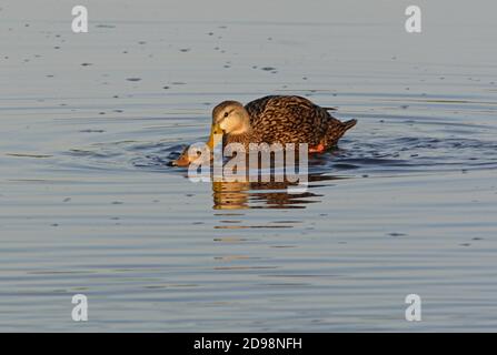
{"label": "dark brown speckled plumage on the upper duck's body and crown", "polygon": [[[217,105],[212,115],[227,106],[237,104],[225,101]],[[309,148],[321,145],[329,149],[337,144],[356,120],[341,122],[308,99],[294,95],[270,95],[245,105],[250,116],[250,129],[241,134],[226,134],[223,143],[239,142],[248,149],[249,143],[308,143]]]}

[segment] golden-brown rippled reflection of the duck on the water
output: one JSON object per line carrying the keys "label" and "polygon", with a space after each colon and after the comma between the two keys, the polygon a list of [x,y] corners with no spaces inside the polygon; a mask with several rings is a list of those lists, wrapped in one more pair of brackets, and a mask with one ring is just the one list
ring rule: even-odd
{"label": "golden-brown rippled reflection of the duck on the water", "polygon": [[[308,189],[322,186],[316,182],[342,178],[315,173],[308,175]],[[320,202],[322,195],[306,190],[289,192],[295,182],[211,182],[215,210],[243,209],[305,209],[308,203]]]}

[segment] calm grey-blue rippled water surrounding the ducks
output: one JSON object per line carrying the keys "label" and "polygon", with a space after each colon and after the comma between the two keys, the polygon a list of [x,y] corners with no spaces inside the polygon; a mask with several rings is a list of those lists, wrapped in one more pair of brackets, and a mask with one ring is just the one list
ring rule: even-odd
{"label": "calm grey-blue rippled water surrounding the ducks", "polygon": [[[495,4],[87,3],[0,7],[1,331],[497,328]],[[307,192],[167,165],[266,94],[359,121]]]}

